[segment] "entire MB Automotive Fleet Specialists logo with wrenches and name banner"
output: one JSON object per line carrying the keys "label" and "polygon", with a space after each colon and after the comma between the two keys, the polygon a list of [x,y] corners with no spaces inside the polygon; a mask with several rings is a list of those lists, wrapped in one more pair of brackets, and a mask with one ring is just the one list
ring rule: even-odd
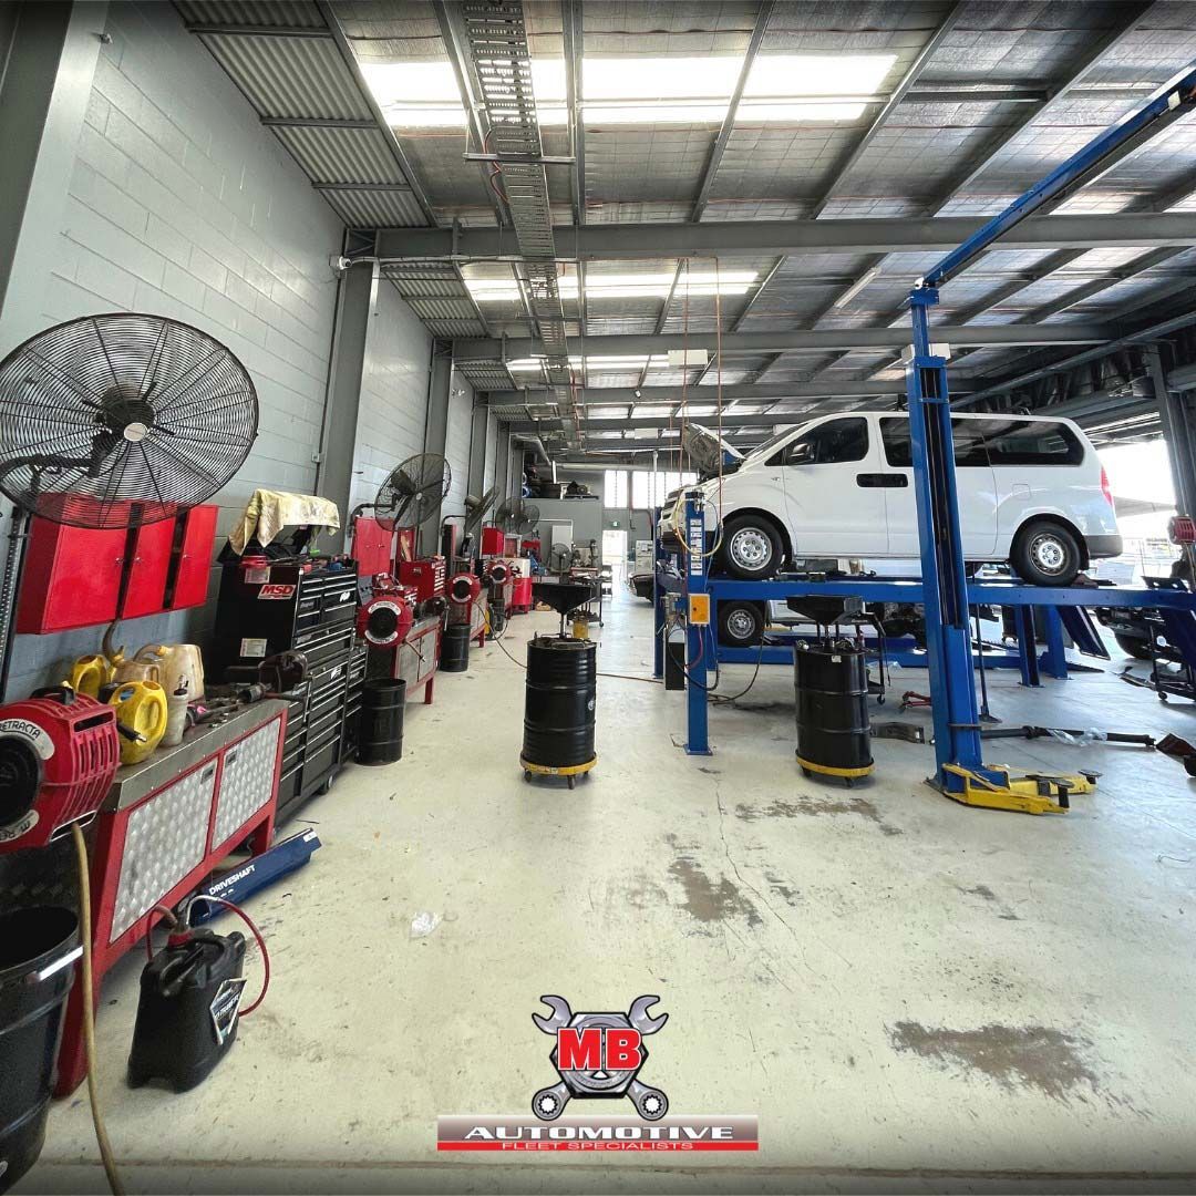
{"label": "entire MB Automotive Fleet Specialists logo with wrenches and name banner", "polygon": [[[526,1117],[440,1117],[441,1151],[755,1151],[755,1117],[666,1117],[669,1098],[640,1079],[648,1058],[643,1039],[664,1029],[667,1013],[648,1011],[659,996],[637,996],[627,1013],[574,1013],[563,996],[542,996],[549,1015],[533,1013],[554,1038],[549,1060],[556,1084],[531,1102]],[[627,1097],[637,1116],[562,1117],[572,1100]],[[547,1123],[547,1124],[545,1124]]]}

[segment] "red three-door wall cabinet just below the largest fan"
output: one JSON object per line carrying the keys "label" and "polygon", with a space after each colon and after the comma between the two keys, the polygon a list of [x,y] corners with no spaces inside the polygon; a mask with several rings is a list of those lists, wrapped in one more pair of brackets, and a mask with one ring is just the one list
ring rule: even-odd
{"label": "red three-door wall cabinet just below the largest fan", "polygon": [[218,513],[214,506],[193,507],[133,531],[68,527],[35,517],[17,631],[47,635],[202,605]]}

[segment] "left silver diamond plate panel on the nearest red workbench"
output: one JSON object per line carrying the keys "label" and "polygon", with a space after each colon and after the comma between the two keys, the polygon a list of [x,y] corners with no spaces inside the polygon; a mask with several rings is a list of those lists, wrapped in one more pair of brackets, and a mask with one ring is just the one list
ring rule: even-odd
{"label": "left silver diamond plate panel on the nearest red workbench", "polygon": [[215,781],[216,765],[212,761],[129,814],[110,942],[203,860]]}

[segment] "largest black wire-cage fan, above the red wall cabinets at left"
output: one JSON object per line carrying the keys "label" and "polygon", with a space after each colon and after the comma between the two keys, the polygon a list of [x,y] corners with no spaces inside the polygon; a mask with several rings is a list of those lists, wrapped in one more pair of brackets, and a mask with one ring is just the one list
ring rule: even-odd
{"label": "largest black wire-cage fan, above the red wall cabinets at left", "polygon": [[0,362],[0,490],[75,527],[136,527],[212,498],[257,435],[245,367],[161,316],[87,316]]}

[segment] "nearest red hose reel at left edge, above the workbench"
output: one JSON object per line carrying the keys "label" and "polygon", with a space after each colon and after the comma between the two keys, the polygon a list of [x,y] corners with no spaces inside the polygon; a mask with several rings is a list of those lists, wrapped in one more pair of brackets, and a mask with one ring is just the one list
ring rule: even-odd
{"label": "nearest red hose reel at left edge, above the workbench", "polygon": [[120,761],[115,708],[68,685],[0,706],[0,852],[45,847],[93,814]]}

